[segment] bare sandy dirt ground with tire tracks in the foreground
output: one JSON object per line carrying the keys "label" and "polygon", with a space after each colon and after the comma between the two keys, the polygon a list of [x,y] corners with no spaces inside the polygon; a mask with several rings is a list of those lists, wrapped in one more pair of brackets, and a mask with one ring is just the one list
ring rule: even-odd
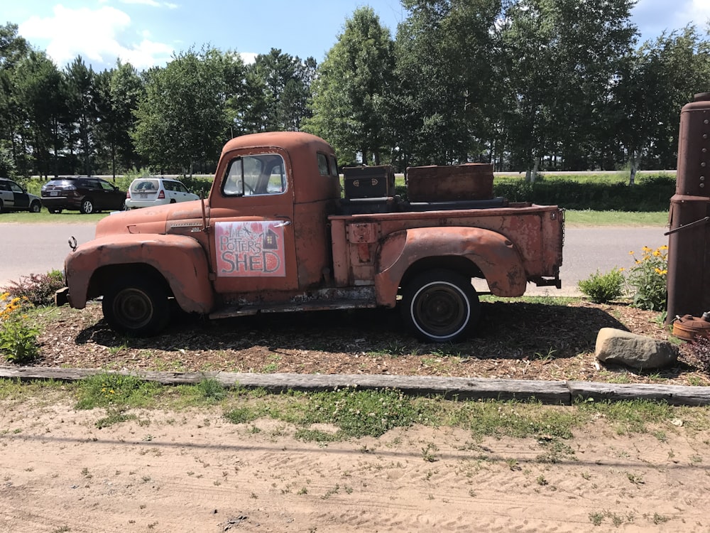
{"label": "bare sandy dirt ground with tire tracks in the foreground", "polygon": [[319,446],[217,409],[136,414],[97,429],[103,410],[0,402],[0,531],[710,531],[710,440],[684,426],[598,421],[550,463],[545,442],[463,430]]}

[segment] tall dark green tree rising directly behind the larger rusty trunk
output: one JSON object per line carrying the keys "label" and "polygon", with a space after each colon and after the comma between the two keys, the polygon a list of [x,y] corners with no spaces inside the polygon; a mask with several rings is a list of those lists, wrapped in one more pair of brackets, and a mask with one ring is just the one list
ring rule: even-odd
{"label": "tall dark green tree rising directly behind the larger rusty trunk", "polygon": [[500,0],[404,0],[391,116],[405,161],[465,163],[484,151],[496,97]]}

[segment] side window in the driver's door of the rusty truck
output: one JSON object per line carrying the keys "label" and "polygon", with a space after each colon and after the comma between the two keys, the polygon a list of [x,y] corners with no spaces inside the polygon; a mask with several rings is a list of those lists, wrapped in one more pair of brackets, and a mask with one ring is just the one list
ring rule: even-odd
{"label": "side window in the driver's door of the rusty truck", "polygon": [[285,165],[279,154],[236,157],[222,181],[225,196],[280,194],[286,190]]}

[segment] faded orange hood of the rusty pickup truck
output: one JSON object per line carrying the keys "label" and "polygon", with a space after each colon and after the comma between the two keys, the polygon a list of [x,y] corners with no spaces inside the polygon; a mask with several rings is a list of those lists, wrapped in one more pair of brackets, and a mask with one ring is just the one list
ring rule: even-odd
{"label": "faded orange hood of the rusty pickup truck", "polygon": [[[120,233],[151,233],[166,235],[170,228],[202,224],[202,200],[156,205],[154,208],[141,208],[131,211],[115,212],[96,226],[96,236],[116,235]],[[205,215],[209,218],[209,206],[204,205]]]}

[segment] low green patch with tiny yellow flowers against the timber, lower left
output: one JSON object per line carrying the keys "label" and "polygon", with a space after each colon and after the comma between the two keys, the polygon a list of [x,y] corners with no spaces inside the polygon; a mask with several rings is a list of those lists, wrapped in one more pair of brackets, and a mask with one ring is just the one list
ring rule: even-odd
{"label": "low green patch with tiny yellow flowers against the timber, lower left", "polygon": [[82,379],[77,388],[76,409],[95,407],[143,407],[163,387],[135,376],[99,374]]}

